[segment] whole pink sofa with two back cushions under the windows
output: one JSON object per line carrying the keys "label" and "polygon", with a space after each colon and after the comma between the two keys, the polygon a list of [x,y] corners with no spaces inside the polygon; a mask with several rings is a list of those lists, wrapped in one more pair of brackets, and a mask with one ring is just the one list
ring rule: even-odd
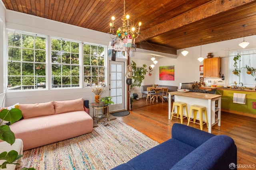
{"label": "whole pink sofa with two back cushions under the windows", "polygon": [[[10,125],[23,150],[92,132],[93,119],[83,98],[39,104],[20,104],[24,119]],[[87,110],[88,111],[88,110]]]}

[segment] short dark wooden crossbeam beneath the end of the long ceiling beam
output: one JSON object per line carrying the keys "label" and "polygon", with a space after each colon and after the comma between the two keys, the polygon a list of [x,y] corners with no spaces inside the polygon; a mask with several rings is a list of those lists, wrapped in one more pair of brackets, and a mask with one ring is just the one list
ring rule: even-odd
{"label": "short dark wooden crossbeam beneath the end of the long ceiling beam", "polygon": [[156,45],[156,44],[150,44],[150,43],[147,43],[145,41],[141,41],[140,43],[136,43],[136,45],[137,45],[137,48],[140,48],[140,49],[146,49],[146,50],[150,50],[150,51],[157,51],[157,52],[161,52],[161,53],[177,55],[177,50],[176,49],[172,49],[172,48],[169,48],[169,47],[164,47],[164,46]]}

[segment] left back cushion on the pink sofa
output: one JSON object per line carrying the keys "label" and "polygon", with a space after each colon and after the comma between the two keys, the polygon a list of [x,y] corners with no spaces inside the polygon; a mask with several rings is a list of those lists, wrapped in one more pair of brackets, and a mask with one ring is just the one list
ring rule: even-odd
{"label": "left back cushion on the pink sofa", "polygon": [[36,103],[36,104],[20,104],[20,110],[24,119],[30,117],[54,115],[54,102]]}

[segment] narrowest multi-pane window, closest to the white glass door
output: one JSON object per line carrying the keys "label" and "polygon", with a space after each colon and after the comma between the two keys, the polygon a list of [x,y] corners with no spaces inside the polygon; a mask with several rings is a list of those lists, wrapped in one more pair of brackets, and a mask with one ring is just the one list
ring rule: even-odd
{"label": "narrowest multi-pane window, closest to the white glass door", "polygon": [[84,44],[84,85],[105,84],[104,47]]}

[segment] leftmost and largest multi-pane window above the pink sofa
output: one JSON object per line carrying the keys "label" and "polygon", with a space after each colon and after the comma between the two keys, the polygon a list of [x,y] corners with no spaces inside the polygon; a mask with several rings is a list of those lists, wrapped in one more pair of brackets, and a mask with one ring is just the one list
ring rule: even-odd
{"label": "leftmost and largest multi-pane window above the pink sofa", "polygon": [[46,88],[46,37],[7,34],[8,90]]}

